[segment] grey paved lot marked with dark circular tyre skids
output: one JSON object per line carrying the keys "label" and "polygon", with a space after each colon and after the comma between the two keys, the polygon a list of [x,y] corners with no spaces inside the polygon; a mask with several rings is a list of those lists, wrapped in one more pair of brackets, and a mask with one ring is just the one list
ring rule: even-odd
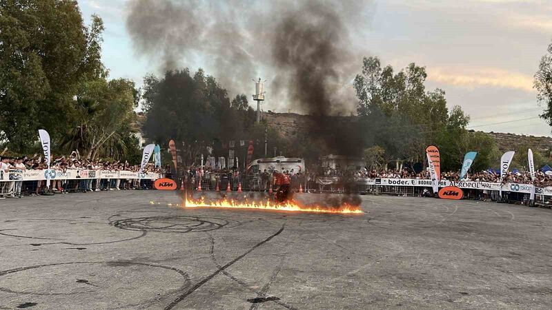
{"label": "grey paved lot marked with dark circular tyre skids", "polygon": [[552,210],[362,198],[351,216],[0,200],[0,309],[552,307]]}

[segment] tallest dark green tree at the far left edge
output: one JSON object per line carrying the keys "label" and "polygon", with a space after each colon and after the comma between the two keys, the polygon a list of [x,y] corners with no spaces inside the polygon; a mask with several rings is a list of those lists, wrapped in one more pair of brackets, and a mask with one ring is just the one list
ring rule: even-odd
{"label": "tallest dark green tree at the far left edge", "polygon": [[0,140],[25,152],[37,130],[59,141],[75,116],[79,83],[105,74],[103,23],[87,28],[77,1],[0,1]]}

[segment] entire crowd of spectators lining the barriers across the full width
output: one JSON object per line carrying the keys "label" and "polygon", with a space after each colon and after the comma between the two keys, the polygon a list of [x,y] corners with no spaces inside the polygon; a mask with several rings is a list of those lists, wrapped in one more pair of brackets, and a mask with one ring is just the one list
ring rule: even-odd
{"label": "entire crowd of spectators lining the barriers across the full width", "polygon": [[[19,158],[2,158],[0,162],[0,172],[6,173],[10,169],[17,170],[39,170],[47,169],[48,165],[42,156],[25,156]],[[57,156],[52,159],[50,169],[57,172],[67,172],[71,169],[85,170],[104,170],[110,172],[130,171],[139,172],[139,165],[130,165],[128,161],[110,161],[110,160],[92,160],[90,158],[81,158],[78,152],[72,152],[69,156]],[[144,172],[157,172],[168,177],[172,177],[170,166],[155,167],[153,163],[146,165]],[[427,170],[416,173],[413,169],[333,169],[330,167],[317,167],[311,169],[307,174],[295,172],[293,169],[284,170],[284,174],[290,176],[292,184],[299,187],[299,183],[315,182],[318,177],[347,177],[347,178],[413,178],[429,179],[430,174]],[[217,167],[190,166],[180,170],[179,176],[184,176],[186,184],[192,189],[197,189],[200,185],[204,190],[214,190],[217,187],[224,190],[228,186],[232,190],[243,185],[247,189],[268,190],[272,183],[272,174],[270,172],[259,171],[253,176],[246,176],[244,172],[237,167],[219,169]],[[442,180],[457,181],[460,178],[458,172],[442,172]],[[502,180],[500,174],[488,170],[466,174],[462,180],[489,183],[524,183],[534,184],[538,187],[552,186],[552,173],[548,174],[537,171],[535,179],[531,180],[529,172],[509,172]],[[181,179],[179,178],[179,182]],[[39,195],[49,192],[67,193],[67,192],[99,192],[108,190],[128,190],[128,189],[148,189],[151,187],[151,181],[138,179],[99,179],[90,178],[83,180],[52,180],[50,187],[46,188],[45,180],[37,181],[10,181],[0,183],[0,198],[4,196],[21,197],[22,193],[30,195]]]}

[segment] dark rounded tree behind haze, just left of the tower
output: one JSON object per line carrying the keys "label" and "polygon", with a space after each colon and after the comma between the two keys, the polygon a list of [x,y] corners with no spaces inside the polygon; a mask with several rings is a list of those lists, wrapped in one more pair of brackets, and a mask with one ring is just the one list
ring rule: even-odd
{"label": "dark rounded tree behind haze, just left of the tower", "polygon": [[163,144],[177,141],[188,165],[205,147],[248,139],[258,129],[247,97],[240,94],[230,101],[226,90],[201,69],[193,76],[188,69],[168,71],[162,78],[146,76],[143,98],[146,136]]}

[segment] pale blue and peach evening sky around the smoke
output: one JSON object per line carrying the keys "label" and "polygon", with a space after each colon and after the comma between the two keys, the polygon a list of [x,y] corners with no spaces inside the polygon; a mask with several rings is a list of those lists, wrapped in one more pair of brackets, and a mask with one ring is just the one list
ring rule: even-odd
{"label": "pale blue and peach evening sky around the smoke", "polygon": [[[126,30],[129,1],[80,0],[79,6],[86,23],[91,14],[105,23],[102,59],[110,78],[141,85],[146,74],[161,72],[133,48]],[[544,107],[533,75],[552,42],[552,0],[375,0],[366,12],[366,19],[355,20],[351,41],[359,51],[358,71],[362,56],[377,56],[395,70],[423,65],[427,89],[441,88],[449,107],[460,105],[471,116],[469,129],[551,136],[538,117]],[[185,65],[210,72],[201,57]],[[253,94],[251,88],[242,92]],[[285,103],[271,105],[270,84],[265,88],[264,110],[288,112]]]}

